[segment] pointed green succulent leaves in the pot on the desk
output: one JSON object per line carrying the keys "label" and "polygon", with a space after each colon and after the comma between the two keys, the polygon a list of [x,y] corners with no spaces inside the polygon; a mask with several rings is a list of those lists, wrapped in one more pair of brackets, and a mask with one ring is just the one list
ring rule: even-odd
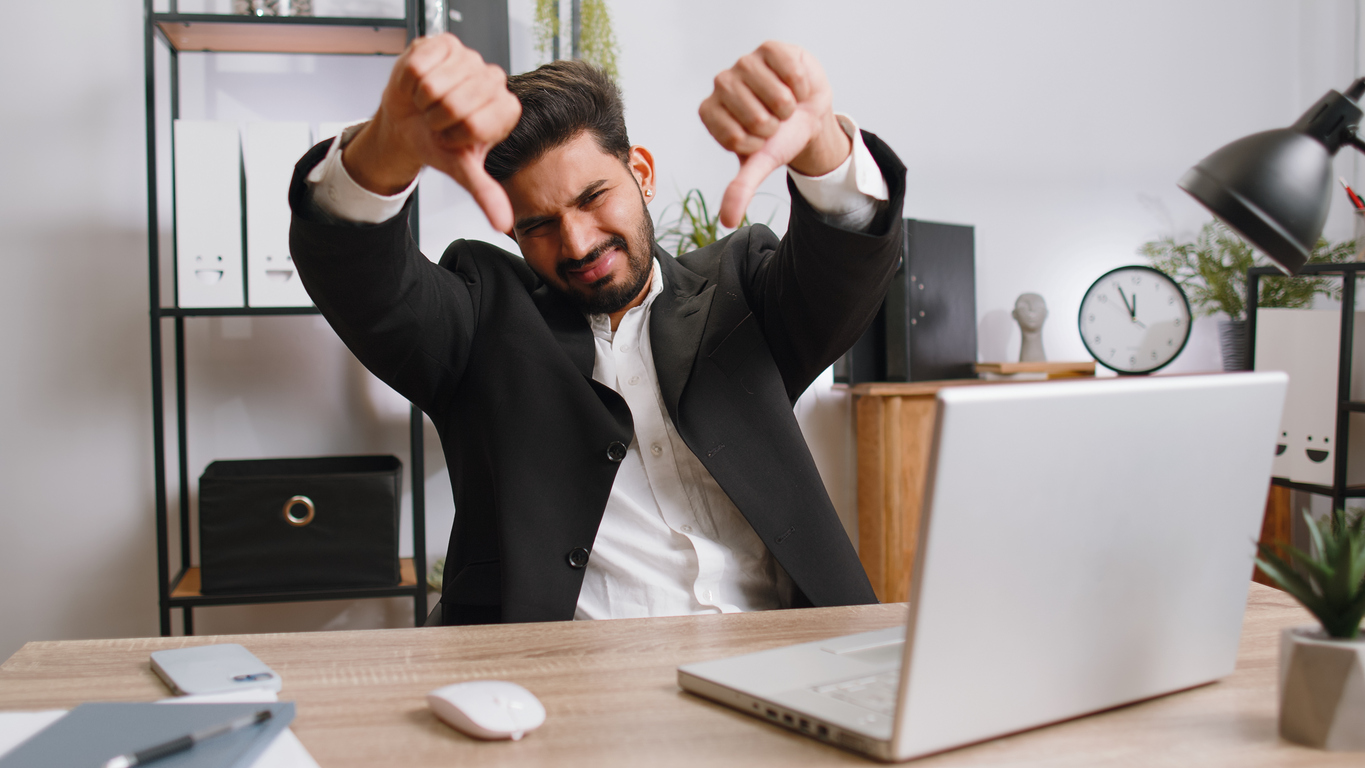
{"label": "pointed green succulent leaves in the pot on the desk", "polygon": [[1306,512],[1304,517],[1317,554],[1280,543],[1286,559],[1276,547],[1257,543],[1256,565],[1312,611],[1328,636],[1354,640],[1365,618],[1365,514],[1347,518],[1338,509],[1328,520],[1313,520]]}

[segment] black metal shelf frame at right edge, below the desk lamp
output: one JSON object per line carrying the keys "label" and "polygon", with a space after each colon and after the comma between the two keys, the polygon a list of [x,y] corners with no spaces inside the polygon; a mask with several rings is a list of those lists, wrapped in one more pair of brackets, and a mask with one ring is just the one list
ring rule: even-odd
{"label": "black metal shelf frame at right edge, below the desk lamp", "polygon": [[[1339,265],[1304,265],[1299,277],[1340,277],[1342,278],[1342,330],[1336,368],[1336,453],[1332,462],[1332,484],[1295,483],[1284,477],[1271,477],[1271,483],[1294,491],[1305,491],[1332,498],[1332,509],[1346,506],[1346,499],[1365,498],[1365,486],[1347,486],[1346,471],[1349,446],[1351,445],[1351,413],[1365,413],[1365,402],[1351,400],[1351,345],[1355,330],[1355,280],[1365,273],[1365,262]],[[1263,277],[1284,277],[1275,267],[1252,267],[1246,270],[1246,344],[1248,360],[1256,367],[1256,306]]]}

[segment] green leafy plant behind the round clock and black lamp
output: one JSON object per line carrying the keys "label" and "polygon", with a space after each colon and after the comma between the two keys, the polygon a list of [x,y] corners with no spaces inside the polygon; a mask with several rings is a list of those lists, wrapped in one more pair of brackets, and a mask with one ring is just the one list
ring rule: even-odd
{"label": "green leafy plant behind the round clock and black lamp", "polygon": [[[1167,236],[1144,243],[1137,252],[1185,289],[1197,314],[1222,311],[1234,321],[1246,318],[1246,270],[1257,266],[1256,250],[1227,226],[1211,221],[1193,241],[1181,243]],[[1350,261],[1354,252],[1354,240],[1335,246],[1319,240],[1308,263],[1339,263]],[[1310,306],[1317,295],[1340,299],[1340,281],[1328,277],[1263,277],[1256,301],[1260,307],[1302,308]]]}

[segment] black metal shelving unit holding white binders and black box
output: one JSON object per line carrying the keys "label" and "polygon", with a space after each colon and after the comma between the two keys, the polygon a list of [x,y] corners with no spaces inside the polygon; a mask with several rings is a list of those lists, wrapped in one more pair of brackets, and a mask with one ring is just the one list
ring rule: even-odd
{"label": "black metal shelving unit holding white binders and black box", "polygon": [[[426,498],[423,479],[423,416],[411,409],[408,480],[412,488],[412,558],[401,563],[403,578],[397,587],[367,589],[300,589],[291,592],[261,592],[239,595],[203,595],[199,592],[199,570],[191,565],[190,542],[190,476],[186,423],[186,318],[222,316],[280,316],[315,315],[314,307],[231,307],[180,308],[161,304],[161,248],[157,190],[157,71],[156,48],[164,45],[169,53],[171,120],[180,116],[179,53],[318,53],[318,55],[397,55],[408,41],[422,34],[425,26],[423,0],[404,0],[405,18],[355,19],[311,16],[242,16],[179,14],[176,1],[169,12],[156,12],[153,0],[143,0],[143,45],[146,67],[146,128],[147,128],[147,295],[152,337],[152,420],[156,471],[157,524],[157,589],[161,634],[171,634],[175,608],[183,611],[186,634],[194,633],[194,608],[206,606],[239,606],[253,603],[288,603],[299,600],[349,600],[358,597],[411,597],[414,621],[418,626],[427,614],[426,588]],[[169,136],[169,131],[167,131]],[[172,153],[172,162],[173,162]],[[173,205],[173,194],[172,194]],[[172,209],[173,210],[173,209]],[[416,237],[416,205],[412,206],[412,232]],[[172,239],[173,243],[173,239]],[[169,255],[173,265],[175,254]],[[164,323],[172,325],[176,431],[175,450],[179,483],[179,566],[172,573],[169,503],[167,477],[165,424],[165,360],[162,359]]]}

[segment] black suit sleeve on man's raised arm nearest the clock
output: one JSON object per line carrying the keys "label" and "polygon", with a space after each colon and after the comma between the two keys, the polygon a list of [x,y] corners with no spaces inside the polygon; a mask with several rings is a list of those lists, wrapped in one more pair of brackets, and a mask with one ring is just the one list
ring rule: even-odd
{"label": "black suit sleeve on man's raised arm nearest the clock", "polygon": [[830,224],[789,179],[786,235],[749,229],[747,299],[792,402],[872,325],[900,263],[905,166],[874,134],[863,131],[863,141],[890,192],[870,228]]}

